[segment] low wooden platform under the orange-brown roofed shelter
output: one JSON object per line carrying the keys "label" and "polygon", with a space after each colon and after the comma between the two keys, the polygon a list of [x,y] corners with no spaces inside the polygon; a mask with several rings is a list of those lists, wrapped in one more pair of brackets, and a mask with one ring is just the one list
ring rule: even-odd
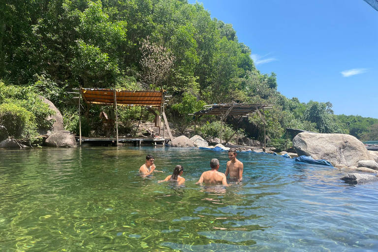
{"label": "low wooden platform under the orange-brown roofed shelter", "polygon": [[[76,136],[76,141],[80,141]],[[158,137],[118,137],[118,142],[122,145],[129,146],[141,146],[141,145],[164,145],[170,141],[170,138],[158,138]],[[82,145],[111,145],[116,146],[115,137],[81,137]]]}

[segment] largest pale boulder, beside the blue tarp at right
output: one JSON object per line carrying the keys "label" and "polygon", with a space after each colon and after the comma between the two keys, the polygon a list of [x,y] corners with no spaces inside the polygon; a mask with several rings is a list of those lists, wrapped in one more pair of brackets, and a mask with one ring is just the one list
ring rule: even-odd
{"label": "largest pale boulder, beside the blue tarp at right", "polygon": [[293,146],[298,156],[325,159],[333,166],[358,166],[359,160],[373,160],[365,145],[347,134],[302,132],[294,137]]}

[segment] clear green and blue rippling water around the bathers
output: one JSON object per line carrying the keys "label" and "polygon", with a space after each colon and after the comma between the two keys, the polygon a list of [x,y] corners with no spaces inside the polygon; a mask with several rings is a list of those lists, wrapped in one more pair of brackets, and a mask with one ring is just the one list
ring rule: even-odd
{"label": "clear green and blue rippling water around the bathers", "polygon": [[[146,154],[158,170],[138,175]],[[244,181],[195,185],[227,153],[168,147],[0,150],[0,251],[377,251],[377,185],[239,153]],[[184,187],[157,181],[176,164]]]}

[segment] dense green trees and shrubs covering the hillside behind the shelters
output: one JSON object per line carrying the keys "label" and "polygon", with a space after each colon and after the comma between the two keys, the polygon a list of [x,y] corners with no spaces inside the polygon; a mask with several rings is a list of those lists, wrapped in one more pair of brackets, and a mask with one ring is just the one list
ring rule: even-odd
{"label": "dense green trees and shrubs covering the hillside behind the shelters", "polygon": [[[276,74],[260,73],[250,55],[231,24],[211,19],[202,4],[187,0],[0,1],[0,79],[49,98],[63,112],[67,129],[77,128],[77,105],[66,93],[72,88],[162,88],[173,95],[166,112],[180,131],[191,126],[188,113],[204,104],[245,102],[274,105],[266,111],[267,135],[280,148],[286,127],[378,140],[377,119],[335,116],[330,102],[286,98],[277,91]],[[16,100],[0,103],[0,113],[4,107],[28,110]],[[40,109],[32,111],[35,118]],[[98,112],[87,109],[88,134]],[[26,122],[36,119],[23,113],[28,128]],[[120,114],[129,124],[148,117],[140,109]],[[262,128],[260,118],[250,121]],[[202,123],[201,132],[217,131]],[[257,132],[250,136],[261,140]]]}

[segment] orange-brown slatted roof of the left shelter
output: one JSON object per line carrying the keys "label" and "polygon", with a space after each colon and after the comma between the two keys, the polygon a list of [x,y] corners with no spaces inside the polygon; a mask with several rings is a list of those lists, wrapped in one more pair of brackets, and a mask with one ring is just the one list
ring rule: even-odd
{"label": "orange-brown slatted roof of the left shelter", "polygon": [[[116,95],[117,105],[121,106],[153,106],[163,104],[163,91],[115,91],[112,89],[80,89],[83,99],[90,104],[113,105]],[[115,94],[114,94],[115,93]]]}

